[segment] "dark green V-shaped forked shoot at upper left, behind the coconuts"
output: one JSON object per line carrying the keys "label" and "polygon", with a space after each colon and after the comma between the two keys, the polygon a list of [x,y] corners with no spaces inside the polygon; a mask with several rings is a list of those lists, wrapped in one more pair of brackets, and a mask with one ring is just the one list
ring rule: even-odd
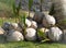
{"label": "dark green V-shaped forked shoot at upper left, behind the coconuts", "polygon": [[20,10],[21,10],[21,0],[18,4],[18,7],[15,7],[15,2],[13,2],[13,14],[15,17],[15,22],[16,22],[16,17],[20,17]]}

